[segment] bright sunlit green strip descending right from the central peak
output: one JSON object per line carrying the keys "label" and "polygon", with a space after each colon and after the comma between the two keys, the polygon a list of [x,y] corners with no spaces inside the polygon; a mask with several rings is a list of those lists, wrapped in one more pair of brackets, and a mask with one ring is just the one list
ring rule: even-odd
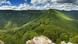
{"label": "bright sunlit green strip descending right from the central peak", "polygon": [[74,20],[74,19],[71,18],[70,16],[65,15],[64,13],[59,12],[59,11],[54,10],[54,9],[50,9],[50,10],[48,10],[47,12],[48,12],[48,14],[51,14],[52,17],[55,17],[55,16],[56,16],[56,17],[58,17],[58,18],[60,18],[60,19],[65,19],[65,20],[69,20],[69,21],[73,21],[73,20]]}

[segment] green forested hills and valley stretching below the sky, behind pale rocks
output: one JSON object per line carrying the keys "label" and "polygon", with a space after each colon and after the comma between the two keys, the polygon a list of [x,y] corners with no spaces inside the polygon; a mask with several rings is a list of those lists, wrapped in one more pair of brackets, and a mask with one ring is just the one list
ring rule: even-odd
{"label": "green forested hills and valley stretching below the sky, behind pale rocks", "polygon": [[25,44],[44,35],[56,44],[78,44],[78,20],[58,10],[0,11],[0,40],[5,44]]}

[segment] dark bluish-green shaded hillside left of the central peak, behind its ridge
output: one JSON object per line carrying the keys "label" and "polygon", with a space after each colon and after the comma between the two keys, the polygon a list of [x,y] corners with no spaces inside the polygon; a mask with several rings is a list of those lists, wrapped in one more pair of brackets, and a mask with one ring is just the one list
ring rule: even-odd
{"label": "dark bluish-green shaded hillside left of the central peak, behind its ridge", "polygon": [[[42,14],[43,11],[12,11],[12,10],[1,10],[0,11],[0,27],[7,24],[8,21],[18,24],[21,26]],[[36,16],[35,16],[36,15]]]}

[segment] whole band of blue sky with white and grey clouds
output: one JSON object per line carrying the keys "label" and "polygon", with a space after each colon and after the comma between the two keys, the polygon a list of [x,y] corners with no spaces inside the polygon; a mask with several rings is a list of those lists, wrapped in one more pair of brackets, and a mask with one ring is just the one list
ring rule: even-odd
{"label": "whole band of blue sky with white and grey clouds", "polygon": [[[28,4],[27,4],[28,3]],[[78,0],[2,0],[0,10],[78,10]]]}

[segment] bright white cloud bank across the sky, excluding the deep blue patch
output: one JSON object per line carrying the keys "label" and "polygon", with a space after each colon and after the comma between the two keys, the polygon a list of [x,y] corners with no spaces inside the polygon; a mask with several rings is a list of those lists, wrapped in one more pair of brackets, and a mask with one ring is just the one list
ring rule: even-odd
{"label": "bright white cloud bank across the sky, excluding the deep blue patch", "polygon": [[[63,0],[59,0],[59,2],[60,1]],[[48,10],[48,9],[58,9],[66,11],[78,10],[77,4],[58,3],[58,0],[32,0],[31,1],[32,5],[23,3],[19,4],[19,6],[11,6],[12,4],[9,1],[2,1],[0,4],[2,3],[7,3],[9,5],[0,6],[0,10]]]}

